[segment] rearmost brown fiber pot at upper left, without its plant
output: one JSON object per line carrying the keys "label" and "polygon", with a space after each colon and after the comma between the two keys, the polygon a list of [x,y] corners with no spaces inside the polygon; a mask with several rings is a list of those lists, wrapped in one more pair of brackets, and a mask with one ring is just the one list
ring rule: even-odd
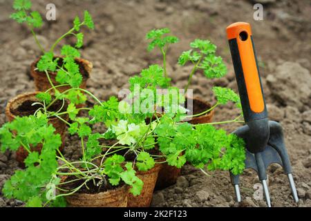
{"label": "rearmost brown fiber pot at upper left, without its plant", "polygon": [[[55,57],[55,58],[57,58],[57,57]],[[59,65],[61,65],[62,64],[62,57],[58,57],[58,58],[59,58]],[[36,70],[37,63],[38,63],[39,59],[32,62],[31,66],[30,66],[30,74],[33,77],[33,79],[35,80],[36,90],[46,91],[49,88],[51,88],[51,85],[50,85],[50,81],[48,81],[48,77],[46,77],[46,73],[40,72],[39,70]],[[83,77],[82,84],[81,84],[80,88],[85,89],[86,88],[86,81],[88,81],[88,79],[90,78],[91,71],[93,68],[93,64],[90,61],[85,60],[85,59],[81,59],[81,58],[76,58],[75,61],[79,65],[79,70],[80,70],[80,73],[82,73],[82,77]],[[49,74],[50,79],[53,82],[54,86],[59,85],[59,83],[55,80],[57,73],[48,72],[48,74]],[[60,92],[64,92],[65,90],[68,90],[68,89],[70,89],[70,86],[63,86],[63,87],[57,88],[57,90],[59,90]]]}

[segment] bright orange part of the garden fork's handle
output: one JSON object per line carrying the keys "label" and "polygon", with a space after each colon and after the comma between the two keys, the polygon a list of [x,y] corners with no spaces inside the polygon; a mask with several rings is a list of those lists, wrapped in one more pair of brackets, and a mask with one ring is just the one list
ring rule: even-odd
{"label": "bright orange part of the garden fork's handle", "polygon": [[252,30],[249,23],[232,23],[232,25],[227,27],[227,38],[229,41],[236,39],[238,54],[242,66],[242,70],[240,70],[242,73],[238,73],[238,75],[236,73],[236,75],[243,75],[244,77],[249,107],[254,113],[262,113],[265,111],[265,102],[263,99],[261,81],[256,64],[256,55],[252,41]]}

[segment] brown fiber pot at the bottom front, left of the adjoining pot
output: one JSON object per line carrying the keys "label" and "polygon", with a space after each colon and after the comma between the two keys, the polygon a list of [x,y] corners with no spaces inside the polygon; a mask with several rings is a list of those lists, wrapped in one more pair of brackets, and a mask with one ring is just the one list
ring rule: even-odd
{"label": "brown fiber pot at the bottom front, left of the adjoining pot", "polygon": [[74,193],[67,195],[66,201],[70,207],[126,207],[129,186],[123,185],[117,189],[89,194]]}

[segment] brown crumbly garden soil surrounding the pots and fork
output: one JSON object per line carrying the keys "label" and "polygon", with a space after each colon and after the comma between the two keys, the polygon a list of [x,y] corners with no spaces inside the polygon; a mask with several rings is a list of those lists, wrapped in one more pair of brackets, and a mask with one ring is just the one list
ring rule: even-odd
{"label": "brown crumbly garden soil surrounding the pots and fork", "polygon": [[[95,31],[84,30],[85,47],[82,57],[92,61],[93,73],[88,90],[106,100],[128,88],[129,77],[140,73],[150,64],[160,64],[160,53],[148,53],[147,31],[153,28],[170,28],[180,42],[171,46],[167,70],[174,86],[185,87],[191,66],[178,66],[177,59],[189,42],[196,38],[210,39],[218,46],[218,55],[227,64],[228,75],[223,79],[209,80],[197,73],[191,87],[194,96],[215,104],[212,86],[228,86],[237,91],[232,59],[227,44],[225,28],[236,21],[252,25],[252,33],[270,119],[280,122],[285,134],[285,144],[292,162],[299,203],[295,204],[281,166],[268,168],[272,206],[311,206],[311,7],[308,0],[261,1],[264,17],[255,21],[254,1],[212,0],[129,0],[129,1],[69,1],[54,0],[57,21],[45,22],[38,31],[39,40],[46,49],[57,36],[66,32],[75,15],[89,10],[95,20]],[[35,1],[34,8],[45,12],[46,0]],[[0,1],[0,125],[6,122],[4,109],[8,99],[34,90],[30,77],[30,64],[40,52],[25,26],[8,19],[12,1]],[[126,16],[124,16],[126,15]],[[70,38],[62,43],[75,44]],[[58,50],[59,48],[57,48]],[[89,99],[88,104],[94,104]],[[233,104],[216,109],[214,122],[234,119],[238,110]],[[221,126],[231,133],[240,124]],[[93,126],[103,133],[100,124]],[[81,150],[77,135],[66,138],[64,155],[79,159]],[[15,153],[0,154],[0,189],[5,180],[18,169]],[[153,194],[152,206],[266,206],[264,200],[254,197],[258,191],[258,177],[246,170],[241,176],[242,204],[234,201],[234,189],[229,173],[216,171],[203,175],[186,165],[178,182]],[[0,206],[22,206],[18,200],[8,200],[0,195]]]}

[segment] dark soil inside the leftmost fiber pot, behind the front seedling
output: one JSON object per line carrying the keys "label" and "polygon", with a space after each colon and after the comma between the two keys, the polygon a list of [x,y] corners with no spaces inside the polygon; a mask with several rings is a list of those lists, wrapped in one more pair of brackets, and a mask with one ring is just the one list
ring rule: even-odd
{"label": "dark soil inside the leftmost fiber pot, behind the front seedling", "polygon": [[[39,108],[41,108],[41,105],[35,104],[34,101],[26,100],[25,102],[21,103],[20,106],[17,108],[11,108],[11,113],[15,116],[23,117],[23,116],[29,116],[33,115]],[[62,108],[63,102],[61,100],[57,100],[52,106],[48,108],[48,111],[56,112],[59,111],[60,108]],[[62,108],[61,112],[66,111],[66,105]]]}

